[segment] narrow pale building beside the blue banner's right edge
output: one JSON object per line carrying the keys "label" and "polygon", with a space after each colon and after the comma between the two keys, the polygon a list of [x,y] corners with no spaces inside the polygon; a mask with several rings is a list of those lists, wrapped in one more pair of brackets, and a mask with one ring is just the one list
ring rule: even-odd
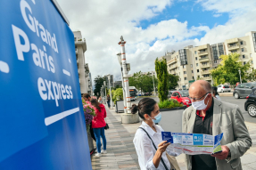
{"label": "narrow pale building beside the blue banner's right edge", "polygon": [[85,52],[87,51],[86,40],[82,38],[80,31],[73,32],[75,36],[75,49],[78,65],[78,76],[81,93],[90,93],[91,89],[89,88],[89,67],[86,63]]}

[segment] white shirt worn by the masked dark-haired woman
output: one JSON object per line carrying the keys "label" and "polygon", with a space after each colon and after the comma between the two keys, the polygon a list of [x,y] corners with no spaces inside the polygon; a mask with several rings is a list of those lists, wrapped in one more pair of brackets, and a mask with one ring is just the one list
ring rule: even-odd
{"label": "white shirt worn by the masked dark-haired woman", "polygon": [[[157,132],[154,132],[153,129],[149,125],[147,125],[144,121],[142,122],[142,125],[140,125],[140,127],[144,128],[145,131],[150,135],[151,139],[154,142],[154,145],[156,146],[156,148],[158,148],[159,143],[162,142],[161,132],[163,131],[163,129],[161,128],[160,125],[153,125],[153,126]],[[142,170],[165,170],[165,167],[163,166],[161,161],[158,168],[156,168],[153,165],[153,156],[156,150],[154,149],[152,141],[149,139],[147,134],[145,134],[144,130],[140,128],[136,130],[133,143],[136,148],[138,163]],[[179,155],[179,153],[172,152],[168,148],[166,149],[166,151],[169,155],[172,155],[172,156]],[[169,164],[168,158],[166,157],[166,152],[162,153],[161,158],[163,159],[168,169],[170,169],[170,164]]]}

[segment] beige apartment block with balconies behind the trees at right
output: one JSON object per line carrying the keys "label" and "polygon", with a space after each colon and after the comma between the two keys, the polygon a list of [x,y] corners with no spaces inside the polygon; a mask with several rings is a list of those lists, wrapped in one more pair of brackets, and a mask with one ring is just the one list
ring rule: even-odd
{"label": "beige apartment block with balconies behind the trees at right", "polygon": [[189,45],[178,52],[165,53],[159,59],[166,59],[169,74],[179,76],[178,89],[188,89],[197,79],[209,81],[212,85],[210,71],[218,67],[219,57],[228,53],[240,53],[240,61],[243,64],[251,61],[256,69],[256,32],[215,45]]}

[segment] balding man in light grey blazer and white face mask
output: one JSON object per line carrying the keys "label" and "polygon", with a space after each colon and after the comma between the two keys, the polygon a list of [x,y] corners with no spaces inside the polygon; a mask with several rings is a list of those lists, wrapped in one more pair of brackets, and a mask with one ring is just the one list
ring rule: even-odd
{"label": "balding man in light grey blazer and white face mask", "polygon": [[252,139],[237,105],[211,96],[211,84],[195,81],[189,88],[192,106],[183,112],[183,133],[223,133],[222,152],[214,155],[186,155],[188,170],[240,170],[240,157],[252,146]]}

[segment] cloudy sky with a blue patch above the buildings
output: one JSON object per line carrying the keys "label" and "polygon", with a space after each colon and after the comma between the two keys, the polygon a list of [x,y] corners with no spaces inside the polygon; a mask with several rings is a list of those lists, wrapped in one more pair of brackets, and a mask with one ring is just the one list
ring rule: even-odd
{"label": "cloudy sky with a blue patch above the buildings", "polygon": [[87,41],[92,78],[120,80],[120,36],[129,74],[154,70],[154,60],[187,45],[216,44],[256,31],[255,0],[57,0],[73,31]]}

